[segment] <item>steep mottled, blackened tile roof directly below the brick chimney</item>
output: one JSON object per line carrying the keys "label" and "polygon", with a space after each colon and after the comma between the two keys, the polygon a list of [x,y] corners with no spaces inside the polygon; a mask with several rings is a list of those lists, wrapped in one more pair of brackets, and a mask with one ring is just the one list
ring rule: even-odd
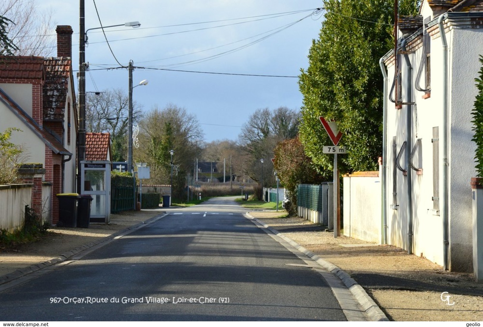
{"label": "steep mottled, blackened tile roof directly below the brick chimney", "polygon": [[43,85],[43,119],[62,119],[69,78],[71,78],[70,58],[45,58],[45,83]]}

